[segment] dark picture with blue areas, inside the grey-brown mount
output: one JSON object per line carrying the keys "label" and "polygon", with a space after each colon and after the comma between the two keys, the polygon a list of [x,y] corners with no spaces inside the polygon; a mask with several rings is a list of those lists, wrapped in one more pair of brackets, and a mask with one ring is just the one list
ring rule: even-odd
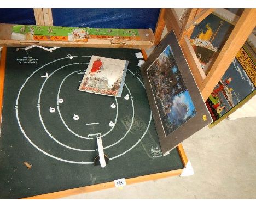
{"label": "dark picture with blue areas, inside the grey-brown mount", "polygon": [[196,110],[170,45],[147,70],[165,136],[195,117]]}

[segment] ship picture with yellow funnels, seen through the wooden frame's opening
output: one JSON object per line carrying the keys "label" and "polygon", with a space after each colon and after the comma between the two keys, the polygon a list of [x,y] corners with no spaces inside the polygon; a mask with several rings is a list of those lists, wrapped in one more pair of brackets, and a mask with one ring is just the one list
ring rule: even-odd
{"label": "ship picture with yellow funnels, seen through the wooden frame's opening", "polygon": [[234,26],[213,14],[207,16],[194,28],[190,44],[205,72],[206,65],[224,45],[232,29]]}

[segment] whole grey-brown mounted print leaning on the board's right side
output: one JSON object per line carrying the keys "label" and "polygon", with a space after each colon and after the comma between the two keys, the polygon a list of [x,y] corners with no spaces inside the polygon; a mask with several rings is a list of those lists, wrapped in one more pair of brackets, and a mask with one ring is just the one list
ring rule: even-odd
{"label": "whole grey-brown mounted print leaning on the board's right side", "polygon": [[164,155],[212,122],[173,31],[150,54],[141,73]]}

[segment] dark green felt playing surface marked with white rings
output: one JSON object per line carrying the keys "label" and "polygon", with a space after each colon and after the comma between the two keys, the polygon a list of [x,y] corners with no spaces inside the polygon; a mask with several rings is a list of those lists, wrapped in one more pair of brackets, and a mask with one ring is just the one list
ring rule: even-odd
{"label": "dark green felt playing surface marked with white rings", "polygon": [[[183,168],[177,149],[162,157],[142,78],[138,50],[8,48],[0,138],[0,198],[33,195]],[[28,53],[28,54],[27,54]],[[71,54],[73,59],[69,59]],[[37,63],[24,63],[24,57]],[[121,97],[78,91],[90,57],[129,60]],[[25,58],[27,59],[27,58]],[[27,60],[33,62],[33,60]],[[22,62],[22,63],[19,63]],[[25,60],[26,62],[26,60]],[[79,73],[78,73],[79,72]],[[48,73],[49,77],[42,77]],[[81,73],[81,74],[80,74]],[[62,103],[57,102],[59,98]],[[130,94],[129,100],[124,96]],[[110,105],[115,103],[116,108]],[[39,104],[39,105],[38,105]],[[55,108],[51,113],[50,108]],[[78,120],[73,116],[79,115]],[[112,128],[109,122],[117,122]],[[95,125],[86,125],[98,123]],[[105,168],[94,166],[101,133]],[[32,164],[28,169],[24,162]]]}

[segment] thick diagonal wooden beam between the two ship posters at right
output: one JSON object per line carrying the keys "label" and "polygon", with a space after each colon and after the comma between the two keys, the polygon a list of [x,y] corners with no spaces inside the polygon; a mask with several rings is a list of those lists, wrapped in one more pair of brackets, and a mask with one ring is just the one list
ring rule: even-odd
{"label": "thick diagonal wooden beam between the two ship posters at right", "polygon": [[256,9],[245,9],[228,40],[214,60],[205,80],[200,87],[203,99],[206,101],[212,90],[228,69],[237,52],[245,43],[249,34],[254,29],[256,22]]}

